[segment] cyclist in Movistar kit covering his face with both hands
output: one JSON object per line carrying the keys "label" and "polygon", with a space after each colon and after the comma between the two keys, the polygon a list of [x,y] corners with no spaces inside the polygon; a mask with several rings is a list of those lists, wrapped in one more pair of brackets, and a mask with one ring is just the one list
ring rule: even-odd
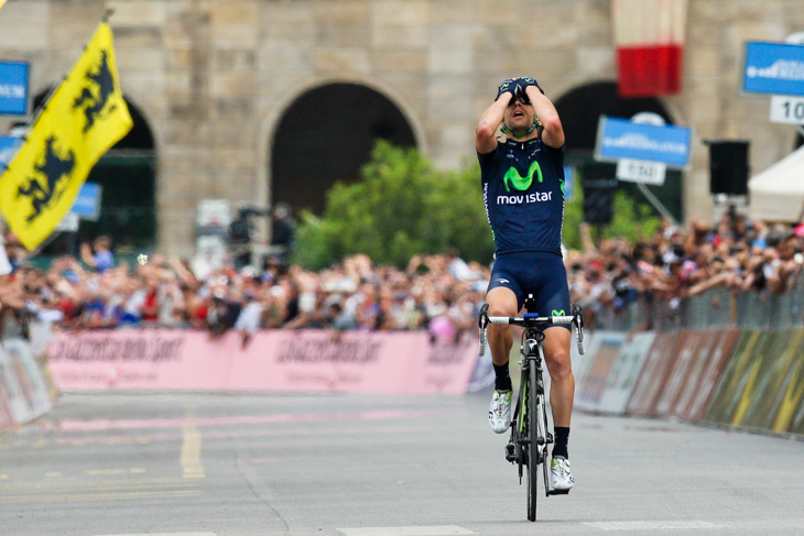
{"label": "cyclist in Movistar kit covering his face with both hands", "polygon": [[[497,139],[498,128],[504,142]],[[489,316],[517,316],[526,293],[534,295],[536,313],[568,315],[569,289],[561,254],[564,129],[555,107],[533,78],[504,80],[495,102],[480,116],[475,145],[496,250],[486,294]],[[555,427],[551,480],[556,490],[575,483],[567,451],[575,395],[571,335],[569,325],[544,329]],[[511,424],[512,327],[491,325],[488,337],[496,373],[489,424],[502,434]]]}

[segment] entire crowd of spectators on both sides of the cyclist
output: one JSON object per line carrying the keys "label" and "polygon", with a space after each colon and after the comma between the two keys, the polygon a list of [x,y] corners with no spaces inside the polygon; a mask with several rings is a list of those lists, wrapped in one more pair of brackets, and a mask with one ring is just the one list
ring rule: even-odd
{"label": "entire crowd of spectators on both sides of the cyclist", "polygon": [[[804,225],[767,226],[725,215],[715,226],[664,221],[650,239],[593,240],[565,250],[572,299],[585,310],[617,311],[637,300],[670,304],[714,287],[738,292],[789,292],[804,262]],[[269,258],[264,270],[236,269],[222,256],[189,260],[144,255],[116,262],[100,237],[79,255],[37,269],[10,232],[0,251],[1,335],[23,335],[31,318],[59,329],[162,326],[229,330],[243,343],[260,329],[428,329],[454,338],[474,329],[490,276],[489,266],[458,252],[415,255],[403,270],[374,265],[362,254],[320,272]]]}

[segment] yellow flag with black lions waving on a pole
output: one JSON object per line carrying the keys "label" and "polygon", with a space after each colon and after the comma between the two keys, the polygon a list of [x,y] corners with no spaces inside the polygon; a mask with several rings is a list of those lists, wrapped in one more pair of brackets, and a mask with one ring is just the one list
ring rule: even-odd
{"label": "yellow flag with black lions waving on a pole", "polygon": [[102,22],[0,177],[0,211],[28,250],[50,237],[95,164],[132,124]]}

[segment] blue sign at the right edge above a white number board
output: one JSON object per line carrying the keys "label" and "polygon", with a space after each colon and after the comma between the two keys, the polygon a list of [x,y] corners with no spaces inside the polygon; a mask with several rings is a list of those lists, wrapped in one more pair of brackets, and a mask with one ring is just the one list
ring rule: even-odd
{"label": "blue sign at the right edge above a white number board", "polygon": [[746,43],[742,90],[772,95],[804,95],[804,45]]}

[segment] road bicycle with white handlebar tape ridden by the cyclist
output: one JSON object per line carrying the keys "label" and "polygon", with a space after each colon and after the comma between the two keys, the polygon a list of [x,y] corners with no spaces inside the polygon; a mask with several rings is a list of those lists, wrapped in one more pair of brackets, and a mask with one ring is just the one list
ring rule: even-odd
{"label": "road bicycle with white handlebar tape ridden by the cyclist", "polygon": [[[575,304],[572,315],[539,316],[534,310],[533,295],[525,299],[525,313],[522,317],[488,316],[488,304],[480,309],[478,326],[480,328],[480,347],[478,354],[486,353],[486,328],[489,324],[510,324],[524,328],[520,346],[519,362],[522,380],[519,387],[517,406],[511,417],[511,438],[506,445],[506,459],[519,468],[519,481],[522,473],[528,481],[528,519],[536,521],[536,495],[539,492],[539,466],[542,466],[545,496],[563,495],[569,490],[554,490],[550,485],[550,464],[547,463],[547,446],[554,441],[547,419],[547,404],[544,396],[543,363],[544,333],[541,328],[551,324],[572,324],[578,341],[578,352],[584,353],[584,317],[580,306]],[[554,311],[555,313],[555,311]],[[563,311],[562,311],[563,313]]]}

